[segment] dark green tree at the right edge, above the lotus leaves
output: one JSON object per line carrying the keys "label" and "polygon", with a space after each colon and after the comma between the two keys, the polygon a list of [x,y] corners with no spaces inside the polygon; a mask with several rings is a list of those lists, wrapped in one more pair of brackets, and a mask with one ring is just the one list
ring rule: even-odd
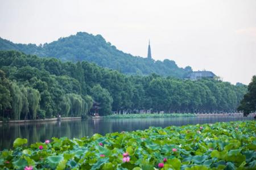
{"label": "dark green tree at the right edge, above the lotus leaves", "polygon": [[243,112],[243,116],[248,116],[256,111],[256,75],[253,76],[248,86],[248,92],[243,96],[238,111]]}

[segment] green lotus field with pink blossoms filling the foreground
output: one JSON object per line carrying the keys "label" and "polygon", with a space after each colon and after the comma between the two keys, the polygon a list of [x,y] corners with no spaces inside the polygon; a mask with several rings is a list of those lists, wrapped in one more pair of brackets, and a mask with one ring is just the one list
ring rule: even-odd
{"label": "green lotus field with pink blossoms filling the foreground", "polygon": [[255,121],[52,138],[0,151],[0,169],[256,169]]}

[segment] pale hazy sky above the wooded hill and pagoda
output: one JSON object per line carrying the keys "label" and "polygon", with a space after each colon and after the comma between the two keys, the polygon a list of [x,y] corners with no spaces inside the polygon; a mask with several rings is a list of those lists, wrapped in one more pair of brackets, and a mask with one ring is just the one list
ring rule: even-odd
{"label": "pale hazy sky above the wooded hill and pagoda", "polygon": [[174,60],[224,81],[256,75],[256,1],[2,1],[0,37],[44,44],[76,32],[100,34],[119,50]]}

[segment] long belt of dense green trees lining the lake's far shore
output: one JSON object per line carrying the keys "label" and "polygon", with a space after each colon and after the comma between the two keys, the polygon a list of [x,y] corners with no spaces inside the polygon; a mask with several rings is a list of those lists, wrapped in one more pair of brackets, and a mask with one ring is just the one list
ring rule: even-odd
{"label": "long belt of dense green trees lining the lake's far shore", "polygon": [[0,113],[20,118],[85,116],[92,102],[100,115],[111,111],[199,113],[236,111],[247,86],[125,75],[89,62],[61,62],[15,51],[0,51]]}

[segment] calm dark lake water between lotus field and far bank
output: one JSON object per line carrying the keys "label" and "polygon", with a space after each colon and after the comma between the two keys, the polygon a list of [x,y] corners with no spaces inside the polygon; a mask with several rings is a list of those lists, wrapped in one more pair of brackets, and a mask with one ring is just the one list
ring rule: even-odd
{"label": "calm dark lake water between lotus field and far bank", "polygon": [[187,124],[205,124],[238,120],[253,120],[253,118],[126,118],[88,120],[65,120],[53,122],[36,122],[24,124],[0,124],[0,150],[11,148],[15,138],[27,138],[28,143],[45,141],[52,137],[81,138],[94,133],[105,135],[115,131],[143,130],[150,126],[165,128],[167,126],[182,126]]}

